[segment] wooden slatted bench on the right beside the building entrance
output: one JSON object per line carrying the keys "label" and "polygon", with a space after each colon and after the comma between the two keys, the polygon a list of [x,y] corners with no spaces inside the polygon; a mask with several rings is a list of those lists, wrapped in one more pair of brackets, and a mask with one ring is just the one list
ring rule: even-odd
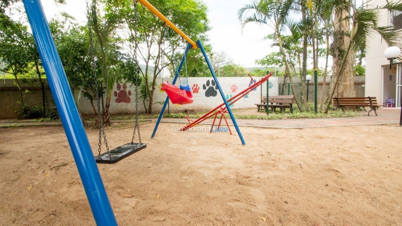
{"label": "wooden slatted bench on the right beside the building entrance", "polygon": [[[376,110],[382,106],[377,104],[375,97],[334,97],[333,101],[336,108],[340,109],[344,107],[363,107],[366,111],[365,107],[370,107],[370,111],[374,111],[375,115],[377,115]],[[368,116],[370,116],[370,111],[367,114]]]}

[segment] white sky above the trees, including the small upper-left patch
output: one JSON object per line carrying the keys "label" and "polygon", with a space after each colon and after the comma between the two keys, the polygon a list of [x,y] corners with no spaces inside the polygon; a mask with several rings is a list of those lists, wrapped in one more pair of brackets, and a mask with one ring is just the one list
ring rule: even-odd
{"label": "white sky above the trees, including the small upper-left patch", "polygon": [[[268,27],[248,24],[241,29],[237,11],[249,0],[203,0],[207,4],[209,23],[212,27],[209,35],[214,52],[224,51],[235,64],[254,67],[256,59],[263,58],[275,49],[263,37],[270,33]],[[84,0],[66,0],[66,4],[55,4],[54,0],[42,0],[43,9],[48,19],[57,17],[60,12],[67,12],[79,22],[86,21]]]}

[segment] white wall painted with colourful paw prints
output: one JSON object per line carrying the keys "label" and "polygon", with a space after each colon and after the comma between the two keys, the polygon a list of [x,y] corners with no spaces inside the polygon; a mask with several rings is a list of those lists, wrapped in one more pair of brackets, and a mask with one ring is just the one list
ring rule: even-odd
{"label": "white wall painted with colourful paw prints", "polygon": [[[186,78],[180,78],[181,82],[184,84],[186,81]],[[256,80],[259,80],[260,77],[254,78]],[[193,96],[194,96],[194,102],[189,105],[173,105],[170,103],[170,111],[183,111],[185,108],[190,108],[190,109],[195,109],[195,110],[209,110],[212,109],[213,107],[216,107],[217,105],[223,103],[222,97],[219,94],[219,90],[215,89],[214,86],[212,86],[211,81],[213,80],[212,77],[194,77],[194,78],[189,78],[189,86],[197,87],[193,88]],[[231,98],[232,96],[238,94],[240,91],[244,90],[245,88],[248,87],[250,83],[250,78],[249,77],[222,77],[219,78],[219,84],[222,87],[222,90],[225,94],[225,97],[227,99]],[[162,78],[157,78],[156,84],[162,84]],[[172,78],[164,78],[164,81],[168,81],[171,83]],[[209,81],[209,86],[206,84]],[[277,77],[271,77],[269,78],[269,82],[271,82],[272,87],[277,87],[278,84],[278,78]],[[177,80],[176,85],[179,85],[179,81]],[[205,86],[205,89],[204,89]],[[266,87],[266,86],[264,86]],[[156,87],[157,89],[154,92],[154,101],[153,101],[153,110],[152,113],[158,114],[160,113],[160,110],[162,109],[162,104],[163,101],[166,99],[166,93],[160,91],[160,86]],[[128,112],[135,112],[135,86],[127,86],[126,89],[123,88],[123,85],[120,84],[120,89],[116,87],[114,88],[114,94],[112,95],[112,100],[111,100],[111,113],[116,114],[116,113],[128,113]],[[208,92],[207,92],[208,90]],[[130,91],[130,92],[129,92]],[[198,92],[197,92],[198,91]],[[269,95],[278,95],[278,90],[277,88],[272,88],[269,91]],[[117,96],[115,96],[117,94]],[[213,94],[213,96],[209,96],[209,94]],[[76,94],[77,95],[77,94]],[[119,96],[128,96],[129,99],[125,99],[126,101],[129,100],[129,103],[120,102],[119,101]],[[265,94],[264,94],[265,95]],[[209,96],[209,97],[207,97]],[[236,108],[255,108],[256,103],[260,103],[260,87],[258,87],[256,90],[251,91],[247,96],[243,97],[236,103],[234,103],[231,107],[232,109]],[[106,97],[105,97],[106,99]],[[158,103],[159,102],[159,103]],[[96,103],[94,103],[96,105]],[[138,104],[139,111],[140,112],[145,112],[144,109],[144,104],[142,103],[142,99],[140,99],[140,102]],[[147,105],[148,107],[148,105]],[[93,114],[92,107],[90,105],[90,102],[86,97],[81,97],[79,101],[79,108],[82,114]],[[167,110],[166,110],[167,112]]]}

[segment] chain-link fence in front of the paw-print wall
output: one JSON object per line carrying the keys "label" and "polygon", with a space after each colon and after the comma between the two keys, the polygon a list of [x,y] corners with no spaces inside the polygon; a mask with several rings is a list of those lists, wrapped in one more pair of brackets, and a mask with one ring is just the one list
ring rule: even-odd
{"label": "chain-link fence in front of the paw-print wall", "polygon": [[[356,76],[359,77],[359,76]],[[224,92],[224,98],[230,99],[235,95],[242,93],[243,90],[251,86],[254,82],[258,81],[261,77],[255,77],[254,81],[250,77],[220,77],[217,78],[222,91]],[[261,86],[254,88],[251,92],[239,99],[235,103],[230,105],[235,115],[266,115],[267,111],[265,107],[258,107],[258,105],[265,104],[265,99],[275,96],[288,96],[294,95],[292,103],[293,112],[298,111],[314,111],[314,96],[317,95],[318,106],[326,99],[326,94],[329,86],[330,78],[327,77],[324,95],[322,95],[322,89],[324,88],[322,77],[318,77],[317,93],[314,89],[314,78],[303,84],[299,76],[289,78],[283,77],[270,77],[267,82],[264,82]],[[172,78],[164,78],[163,81],[169,83],[172,82]],[[194,102],[189,105],[174,105],[170,101],[166,107],[164,114],[168,113],[183,113],[187,115],[202,115],[207,113],[211,109],[217,107],[223,103],[223,99],[217,88],[217,83],[210,77],[189,77],[188,82],[186,78],[180,78],[177,80],[176,85],[189,84],[193,92]],[[162,78],[156,79],[156,87],[154,91],[152,101],[152,111],[150,115],[158,115],[166,100],[166,92],[160,90],[162,86]],[[268,86],[268,92],[267,92]],[[355,89],[357,97],[364,96],[364,76],[362,78],[355,78]],[[113,115],[119,114],[132,114],[135,112],[135,87],[130,84],[116,84],[115,91],[111,99],[111,113]],[[104,97],[106,100],[106,97]],[[139,98],[139,112],[144,114],[150,109],[148,99],[144,100]],[[96,104],[96,103],[95,103]],[[280,104],[270,103],[269,105]],[[286,105],[287,103],[283,103]],[[307,105],[307,107],[306,107]],[[83,115],[93,115],[93,107],[85,97],[81,97],[79,101],[79,109]],[[269,107],[268,114],[280,113],[279,107],[275,108],[275,111]],[[286,113],[290,113],[290,109],[285,109]]]}

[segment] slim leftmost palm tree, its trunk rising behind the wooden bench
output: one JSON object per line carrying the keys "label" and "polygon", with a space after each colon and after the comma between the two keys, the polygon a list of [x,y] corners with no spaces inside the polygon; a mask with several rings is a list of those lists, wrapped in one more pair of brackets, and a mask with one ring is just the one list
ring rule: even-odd
{"label": "slim leftmost palm tree, its trunk rising behind the wooden bench", "polygon": [[[238,10],[238,18],[242,22],[242,28],[248,23],[257,23],[267,25],[274,30],[279,45],[279,52],[285,64],[285,79],[289,77],[292,91],[295,93],[282,41],[283,32],[287,29],[286,25],[293,4],[293,0],[253,0]],[[249,12],[251,13],[249,14]],[[300,100],[295,98],[295,101],[300,111],[303,111]]]}

